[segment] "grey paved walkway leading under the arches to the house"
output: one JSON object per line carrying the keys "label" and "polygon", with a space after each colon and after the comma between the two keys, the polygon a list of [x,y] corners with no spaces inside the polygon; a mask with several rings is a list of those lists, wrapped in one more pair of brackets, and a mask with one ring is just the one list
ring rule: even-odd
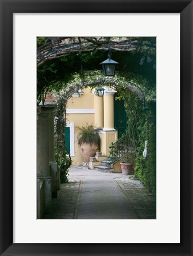
{"label": "grey paved walkway leading under the arches to the house", "polygon": [[139,180],[85,167],[69,169],[45,219],[156,219],[156,200]]}

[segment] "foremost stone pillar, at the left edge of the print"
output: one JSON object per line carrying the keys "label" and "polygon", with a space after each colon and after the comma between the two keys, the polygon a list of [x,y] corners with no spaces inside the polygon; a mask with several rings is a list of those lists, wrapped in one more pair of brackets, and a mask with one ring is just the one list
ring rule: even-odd
{"label": "foremost stone pillar, at the left edge of the print", "polygon": [[[44,113],[41,111],[41,108],[42,107],[38,107],[37,110],[37,181],[38,184],[44,183],[44,212],[47,213],[50,211],[52,201],[52,183],[49,166],[50,114]],[[39,203],[41,208],[43,201]]]}

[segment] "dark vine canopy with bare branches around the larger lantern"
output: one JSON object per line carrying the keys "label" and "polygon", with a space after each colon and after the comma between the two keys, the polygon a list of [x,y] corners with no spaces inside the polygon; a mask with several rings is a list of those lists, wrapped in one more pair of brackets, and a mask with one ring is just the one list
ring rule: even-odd
{"label": "dark vine canopy with bare branches around the larger lantern", "polygon": [[83,71],[101,71],[109,46],[119,76],[140,84],[144,78],[146,86],[155,87],[156,37],[37,37],[37,98],[57,82],[73,81],[76,72],[85,81]]}

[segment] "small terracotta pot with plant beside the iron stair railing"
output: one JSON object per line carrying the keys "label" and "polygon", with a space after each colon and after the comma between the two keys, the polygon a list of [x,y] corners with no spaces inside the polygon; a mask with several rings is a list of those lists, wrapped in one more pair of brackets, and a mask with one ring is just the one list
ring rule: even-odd
{"label": "small terracotta pot with plant beside the iron stair railing", "polygon": [[121,171],[123,174],[134,174],[134,165],[135,156],[133,152],[127,152],[121,159]]}

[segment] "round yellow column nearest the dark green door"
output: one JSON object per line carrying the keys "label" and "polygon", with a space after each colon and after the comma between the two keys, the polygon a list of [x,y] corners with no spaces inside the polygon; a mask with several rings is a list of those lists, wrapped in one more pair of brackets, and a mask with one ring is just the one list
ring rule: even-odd
{"label": "round yellow column nearest the dark green door", "polygon": [[114,129],[114,91],[105,91],[104,93],[104,129]]}

